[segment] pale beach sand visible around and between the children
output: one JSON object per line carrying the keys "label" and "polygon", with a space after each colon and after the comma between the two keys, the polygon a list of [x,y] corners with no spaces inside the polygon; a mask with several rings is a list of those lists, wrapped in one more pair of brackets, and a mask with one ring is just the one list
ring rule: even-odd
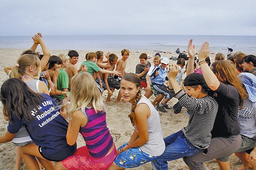
{"label": "pale beach sand visible around and between the children", "polygon": [[[16,60],[26,49],[6,49],[6,48],[0,48],[0,73],[1,73],[1,78],[0,78],[0,85],[8,79],[8,76],[4,73],[4,67],[9,66],[9,65],[14,65],[16,63]],[[39,52],[42,52],[40,47],[38,48]],[[58,55],[60,53],[68,53],[68,50],[50,50],[51,55]],[[76,64],[77,67],[80,66],[80,64],[85,60],[85,55],[86,53],[90,51],[86,50],[78,50],[77,51],[80,55],[79,61]],[[106,52],[106,51],[104,51]],[[154,56],[156,52],[154,51],[140,51],[140,52],[135,52],[132,51],[130,52],[130,56],[127,60],[127,65],[126,65],[126,72],[135,72],[135,67],[137,63],[140,61],[139,60],[139,55],[145,52],[149,55]],[[115,53],[119,59],[121,58],[121,52],[120,51],[110,51],[110,53]],[[161,56],[165,57],[177,57],[178,54],[167,54],[167,53],[160,53]],[[225,54],[227,55],[227,54]],[[211,61],[214,61],[215,55],[210,55]],[[149,59],[151,64],[153,64],[153,58]],[[176,63],[174,60],[170,60],[170,63]],[[144,94],[145,91],[142,92]],[[130,119],[128,118],[129,114],[129,105],[125,104],[124,102],[121,102],[121,104],[116,104],[115,99],[117,97],[118,91],[115,90],[113,93],[111,99],[113,101],[109,103],[105,103],[105,107],[107,110],[107,123],[108,123],[108,128],[110,130],[111,135],[114,138],[116,147],[121,146],[125,142],[128,142],[130,139],[132,132],[133,132],[133,127],[130,122]],[[105,91],[102,95],[103,101],[106,100],[108,95],[108,92]],[[150,101],[154,100],[154,96],[151,96],[149,98]],[[170,106],[173,106],[178,100],[176,98],[173,98],[168,102]],[[0,109],[2,110],[2,103],[0,104]],[[168,113],[161,113],[160,112],[160,120],[161,120],[161,125],[163,129],[163,136],[167,137],[170,134],[177,132],[180,130],[182,127],[185,127],[188,123],[188,115],[186,115],[186,109],[183,107],[181,114],[180,115],[175,115],[173,112],[174,110],[168,110]],[[8,122],[6,122],[3,118],[3,114],[0,114],[0,135],[4,135],[6,132],[6,127],[8,125]],[[77,145],[78,147],[81,147],[85,145],[84,139],[81,137],[81,135],[78,136],[77,139]],[[12,142],[0,144],[0,169],[13,169],[14,164],[15,164],[15,146],[12,144]],[[212,170],[212,169],[219,169],[219,166],[215,160],[208,161],[205,163],[207,169]],[[237,169],[239,166],[241,166],[242,163],[241,161],[235,156],[235,157],[230,157],[230,166],[231,169]],[[177,169],[177,170],[188,170],[188,167],[186,164],[183,162],[182,159],[178,160],[173,160],[168,163],[169,169]],[[24,162],[22,162],[21,169],[27,169],[26,165]],[[147,163],[145,165],[139,166],[137,168],[131,168],[134,170],[148,170],[152,169],[151,163]]]}

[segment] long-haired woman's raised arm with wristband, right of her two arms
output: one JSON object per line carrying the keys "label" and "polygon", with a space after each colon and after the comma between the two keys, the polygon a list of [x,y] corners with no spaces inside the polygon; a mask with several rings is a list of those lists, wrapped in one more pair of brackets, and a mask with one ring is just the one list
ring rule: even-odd
{"label": "long-haired woman's raised arm with wristband, right of her two arms", "polygon": [[209,68],[208,64],[205,61],[205,58],[210,54],[209,43],[206,41],[202,45],[200,51],[198,52],[198,62],[200,64],[204,80],[210,89],[213,91],[217,90],[220,86],[220,81]]}

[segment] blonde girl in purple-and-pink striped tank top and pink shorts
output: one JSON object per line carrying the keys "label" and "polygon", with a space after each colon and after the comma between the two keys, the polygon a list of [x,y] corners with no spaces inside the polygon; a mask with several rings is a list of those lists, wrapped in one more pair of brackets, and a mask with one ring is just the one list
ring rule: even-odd
{"label": "blonde girl in purple-and-pink striped tank top and pink shorts", "polygon": [[80,73],[71,80],[67,142],[73,145],[78,133],[85,146],[56,164],[56,169],[107,169],[116,157],[116,146],[106,123],[104,104],[94,79]]}

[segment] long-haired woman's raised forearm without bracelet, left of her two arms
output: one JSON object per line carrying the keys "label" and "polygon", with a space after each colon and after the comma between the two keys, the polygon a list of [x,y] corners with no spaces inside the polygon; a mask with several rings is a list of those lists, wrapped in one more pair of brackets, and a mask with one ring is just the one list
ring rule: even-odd
{"label": "long-haired woman's raised forearm without bracelet, left of her two arms", "polygon": [[188,66],[187,66],[187,75],[194,73],[194,60],[195,60],[195,55],[196,55],[196,47],[193,45],[193,39],[189,40],[188,43]]}

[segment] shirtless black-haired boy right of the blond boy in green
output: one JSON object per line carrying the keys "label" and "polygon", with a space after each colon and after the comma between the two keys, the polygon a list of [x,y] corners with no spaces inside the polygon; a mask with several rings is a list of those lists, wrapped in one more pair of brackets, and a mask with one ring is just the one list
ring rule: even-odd
{"label": "shirtless black-haired boy right of the blond boy in green", "polygon": [[81,70],[86,71],[86,67],[82,66],[79,70],[76,68],[76,63],[78,62],[79,54],[76,50],[70,50],[68,51],[68,56],[70,57],[68,67],[65,69],[65,71],[68,73],[68,89],[70,89],[70,80],[72,77],[74,77],[77,73],[79,73]]}

